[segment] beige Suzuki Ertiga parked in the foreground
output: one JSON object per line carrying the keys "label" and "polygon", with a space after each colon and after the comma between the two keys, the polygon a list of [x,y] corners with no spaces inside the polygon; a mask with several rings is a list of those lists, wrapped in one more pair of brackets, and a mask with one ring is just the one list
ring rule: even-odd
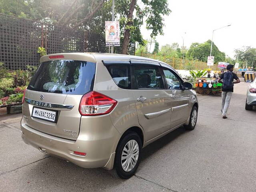
{"label": "beige Suzuki Ertiga parked in the foreground", "polygon": [[118,54],[43,56],[23,99],[24,142],[83,168],[131,177],[142,148],[184,125],[198,100],[163,62]]}

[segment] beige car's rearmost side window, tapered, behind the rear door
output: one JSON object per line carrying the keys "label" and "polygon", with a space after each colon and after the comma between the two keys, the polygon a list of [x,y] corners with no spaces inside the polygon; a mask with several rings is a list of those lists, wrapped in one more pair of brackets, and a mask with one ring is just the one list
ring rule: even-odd
{"label": "beige car's rearmost side window, tapered, behind the rear door", "polygon": [[107,69],[117,86],[123,89],[131,89],[130,66],[110,65],[107,66]]}

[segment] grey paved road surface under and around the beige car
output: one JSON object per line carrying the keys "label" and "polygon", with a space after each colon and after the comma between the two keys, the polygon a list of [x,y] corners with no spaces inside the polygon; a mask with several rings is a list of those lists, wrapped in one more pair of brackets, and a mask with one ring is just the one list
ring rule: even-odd
{"label": "grey paved road surface under and around the beige car", "polygon": [[236,84],[228,119],[220,97],[198,96],[196,129],[180,127],[144,148],[128,180],[44,155],[22,141],[21,114],[0,116],[0,191],[256,192],[256,110],[244,109],[247,87]]}

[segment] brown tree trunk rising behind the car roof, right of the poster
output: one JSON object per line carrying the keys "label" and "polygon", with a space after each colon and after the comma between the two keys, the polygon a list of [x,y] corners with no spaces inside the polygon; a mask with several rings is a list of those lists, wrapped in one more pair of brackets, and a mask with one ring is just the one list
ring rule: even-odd
{"label": "brown tree trunk rising behind the car roof, right of the poster", "polygon": [[[135,5],[136,5],[136,0],[132,0],[130,4],[129,13],[127,15],[128,22],[126,23],[126,26],[131,26],[133,24],[132,15],[134,12]],[[122,54],[128,54],[129,43],[130,43],[130,29],[125,29]]]}

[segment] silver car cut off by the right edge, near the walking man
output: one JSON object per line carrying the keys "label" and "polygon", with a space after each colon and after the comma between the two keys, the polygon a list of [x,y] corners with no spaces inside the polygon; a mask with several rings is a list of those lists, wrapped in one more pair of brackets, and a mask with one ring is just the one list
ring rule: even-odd
{"label": "silver car cut off by the right edge, near the walking man", "polygon": [[253,82],[248,87],[245,109],[252,110],[254,105],[256,105],[256,78],[254,78]]}

